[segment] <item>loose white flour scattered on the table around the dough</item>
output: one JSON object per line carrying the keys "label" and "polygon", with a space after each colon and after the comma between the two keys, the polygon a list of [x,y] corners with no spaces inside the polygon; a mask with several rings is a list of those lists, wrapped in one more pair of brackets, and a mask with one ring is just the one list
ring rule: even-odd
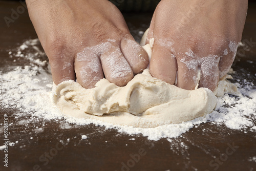
{"label": "loose white flour scattered on the table around the dough", "polygon": [[[45,54],[38,47],[38,39],[27,40],[17,50],[9,52],[9,57],[14,60],[13,63],[22,60],[27,65],[23,67],[10,63],[8,72],[3,72],[1,69],[0,106],[2,109],[15,109],[17,117],[33,116],[44,119],[61,119],[61,113],[54,108],[50,100],[52,78],[48,62],[46,61]],[[255,76],[252,77],[256,79]],[[237,86],[243,97],[238,98],[226,94],[218,98],[216,110],[207,115],[206,118],[196,118],[180,124],[164,125],[153,129],[141,129],[111,125],[97,120],[71,117],[65,117],[64,119],[69,123],[78,125],[94,123],[95,125],[105,126],[106,129],[115,128],[118,132],[129,135],[142,134],[150,140],[179,137],[191,127],[205,122],[219,125],[224,123],[230,129],[247,129],[251,132],[256,132],[256,88],[252,82],[247,80],[241,79],[237,81],[239,82]],[[23,122],[21,120],[15,124],[24,124]],[[65,128],[66,126],[63,125],[62,129]],[[44,131],[40,127],[36,127],[36,129],[38,132]]]}

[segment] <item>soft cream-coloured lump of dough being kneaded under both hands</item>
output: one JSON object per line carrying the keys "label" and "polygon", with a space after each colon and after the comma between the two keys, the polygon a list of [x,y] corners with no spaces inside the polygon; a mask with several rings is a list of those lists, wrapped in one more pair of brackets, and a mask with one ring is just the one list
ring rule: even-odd
{"label": "soft cream-coloured lump of dough being kneaded under both hands", "polygon": [[[152,44],[143,48],[151,56]],[[214,110],[217,97],[210,90],[183,90],[157,78],[148,69],[124,87],[101,79],[93,89],[64,81],[54,88],[53,102],[66,115],[134,127],[181,123]]]}

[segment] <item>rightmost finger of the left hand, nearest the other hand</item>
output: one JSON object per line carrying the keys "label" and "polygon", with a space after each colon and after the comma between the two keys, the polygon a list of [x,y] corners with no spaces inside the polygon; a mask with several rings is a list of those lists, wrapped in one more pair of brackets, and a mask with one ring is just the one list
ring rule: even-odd
{"label": "rightmost finger of the left hand, nearest the other hand", "polygon": [[134,74],[142,72],[148,66],[146,51],[134,40],[132,35],[121,40],[121,51]]}

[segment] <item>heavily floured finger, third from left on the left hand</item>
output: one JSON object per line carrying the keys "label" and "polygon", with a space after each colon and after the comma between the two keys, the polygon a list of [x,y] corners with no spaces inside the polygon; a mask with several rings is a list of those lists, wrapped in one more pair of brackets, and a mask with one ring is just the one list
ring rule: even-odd
{"label": "heavily floured finger, third from left on the left hand", "polygon": [[125,86],[133,78],[133,71],[119,47],[110,48],[100,56],[105,78],[117,86]]}

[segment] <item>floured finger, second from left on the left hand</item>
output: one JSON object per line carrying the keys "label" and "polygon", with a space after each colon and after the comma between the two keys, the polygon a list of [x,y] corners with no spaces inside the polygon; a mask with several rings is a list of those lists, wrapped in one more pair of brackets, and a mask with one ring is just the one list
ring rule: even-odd
{"label": "floured finger, second from left on the left hand", "polygon": [[86,89],[94,88],[103,78],[99,57],[93,52],[84,50],[75,58],[76,81]]}

